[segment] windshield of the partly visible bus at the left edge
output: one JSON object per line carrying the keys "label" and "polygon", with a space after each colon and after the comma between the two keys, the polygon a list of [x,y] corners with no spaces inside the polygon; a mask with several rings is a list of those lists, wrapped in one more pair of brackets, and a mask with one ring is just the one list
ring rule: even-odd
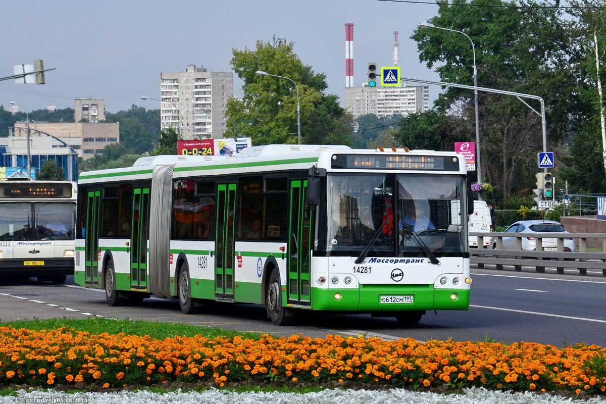
{"label": "windshield of the partly visible bus at the left edge", "polygon": [[0,210],[0,241],[74,240],[76,204],[9,203]]}

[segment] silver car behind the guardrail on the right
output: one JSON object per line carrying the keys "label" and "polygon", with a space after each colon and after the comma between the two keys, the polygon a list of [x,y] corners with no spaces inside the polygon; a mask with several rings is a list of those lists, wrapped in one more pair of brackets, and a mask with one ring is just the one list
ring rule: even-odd
{"label": "silver car behind the guardrail on the right", "polygon": [[[519,220],[505,230],[505,233],[565,233],[570,234],[559,222],[553,220]],[[542,239],[544,251],[557,251],[558,239]],[[496,237],[492,240],[493,248],[496,248]],[[503,237],[503,250],[515,250],[516,237]],[[522,250],[536,250],[536,238],[522,237]],[[576,251],[576,244],[572,237],[564,239],[564,251]]]}

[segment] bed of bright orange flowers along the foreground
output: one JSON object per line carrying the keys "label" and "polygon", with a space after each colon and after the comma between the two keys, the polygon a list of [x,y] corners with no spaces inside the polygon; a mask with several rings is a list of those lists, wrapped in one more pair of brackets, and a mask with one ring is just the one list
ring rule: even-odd
{"label": "bed of bright orange flowers along the foreground", "polygon": [[521,342],[387,342],[364,337],[259,340],[201,336],[151,339],[59,328],[0,327],[0,384],[158,386],[166,382],[345,382],[393,387],[484,386],[604,394],[600,346],[558,349]]}

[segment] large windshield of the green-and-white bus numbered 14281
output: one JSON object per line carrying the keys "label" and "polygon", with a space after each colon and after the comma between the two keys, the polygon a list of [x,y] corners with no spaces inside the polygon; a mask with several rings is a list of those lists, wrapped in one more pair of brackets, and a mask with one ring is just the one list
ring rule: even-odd
{"label": "large windshield of the green-and-white bus numbered 14281", "polygon": [[[465,178],[435,174],[327,177],[327,251],[333,255],[461,256],[467,252]],[[456,207],[456,208],[454,208]]]}

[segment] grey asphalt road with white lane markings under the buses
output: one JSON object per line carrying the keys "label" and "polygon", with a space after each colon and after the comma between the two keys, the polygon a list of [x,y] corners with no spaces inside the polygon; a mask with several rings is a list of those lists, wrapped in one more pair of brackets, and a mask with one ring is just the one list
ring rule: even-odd
{"label": "grey asphalt road with white lane markings under the buses", "polygon": [[556,347],[574,343],[606,345],[606,278],[531,271],[471,270],[469,311],[428,312],[417,325],[402,327],[393,317],[326,315],[298,317],[295,325],[274,326],[260,305],[217,303],[185,315],[176,300],[145,299],[141,306],[110,307],[102,290],[87,290],[68,277],[65,285],[33,279],[0,279],[0,320],[53,317],[144,319],[255,331],[273,336],[304,334],[324,338],[377,336],[416,340],[533,341]]}

